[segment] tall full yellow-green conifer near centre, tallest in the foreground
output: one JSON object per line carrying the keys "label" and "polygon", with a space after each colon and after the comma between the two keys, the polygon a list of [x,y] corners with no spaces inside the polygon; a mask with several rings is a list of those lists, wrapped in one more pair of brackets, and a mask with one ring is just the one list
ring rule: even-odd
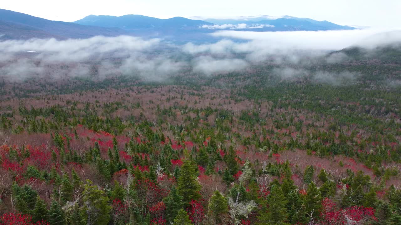
{"label": "tall full yellow-green conifer near centre, tallest in the foreground", "polygon": [[192,199],[197,200],[201,197],[199,194],[201,185],[196,181],[196,171],[192,160],[185,159],[181,166],[177,184],[178,193],[183,197],[185,204],[188,204]]}

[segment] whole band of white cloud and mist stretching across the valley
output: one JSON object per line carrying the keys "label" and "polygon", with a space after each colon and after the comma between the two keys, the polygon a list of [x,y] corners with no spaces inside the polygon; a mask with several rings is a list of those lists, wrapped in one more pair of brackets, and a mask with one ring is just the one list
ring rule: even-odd
{"label": "whole band of white cloud and mist stretching across the valley", "polygon": [[[239,25],[239,24],[237,24]],[[234,27],[239,27],[235,25]],[[217,25],[224,26],[224,25]],[[243,26],[243,25],[240,25]],[[213,28],[220,29],[220,28]],[[242,71],[260,63],[308,64],[332,50],[358,44],[372,48],[401,40],[401,32],[386,30],[242,32],[217,31],[224,38],[215,43],[167,44],[160,39],[144,40],[132,36],[89,39],[31,39],[0,42],[0,76],[11,80],[28,77],[139,76],[162,81],[182,70],[211,76]],[[379,34],[378,34],[379,33]],[[376,35],[374,35],[376,34]],[[238,39],[241,39],[239,41]],[[347,60],[343,53],[326,57],[327,63]],[[285,68],[274,71],[283,79],[306,76],[306,71]],[[310,75],[310,74],[309,74]],[[313,74],[318,82],[338,84],[358,74]]]}

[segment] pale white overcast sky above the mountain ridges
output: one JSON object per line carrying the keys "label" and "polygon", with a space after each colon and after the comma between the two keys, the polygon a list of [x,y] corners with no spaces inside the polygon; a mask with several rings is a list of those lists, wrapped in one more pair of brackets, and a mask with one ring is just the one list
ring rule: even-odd
{"label": "pale white overcast sky above the mountain ridges", "polygon": [[289,15],[374,27],[399,27],[401,21],[401,0],[1,0],[0,8],[67,22],[90,14],[157,18]]}

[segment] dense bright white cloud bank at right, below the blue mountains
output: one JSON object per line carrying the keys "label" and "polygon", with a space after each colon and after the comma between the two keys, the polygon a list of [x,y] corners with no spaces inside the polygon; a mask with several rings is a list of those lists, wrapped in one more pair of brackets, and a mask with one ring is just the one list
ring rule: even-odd
{"label": "dense bright white cloud bank at right, below the blue mountains", "polygon": [[[340,50],[352,45],[377,46],[401,40],[395,29],[255,32],[222,30],[213,36],[255,41],[277,49]],[[393,32],[390,32],[393,31]],[[377,36],[375,36],[377,35]]]}

